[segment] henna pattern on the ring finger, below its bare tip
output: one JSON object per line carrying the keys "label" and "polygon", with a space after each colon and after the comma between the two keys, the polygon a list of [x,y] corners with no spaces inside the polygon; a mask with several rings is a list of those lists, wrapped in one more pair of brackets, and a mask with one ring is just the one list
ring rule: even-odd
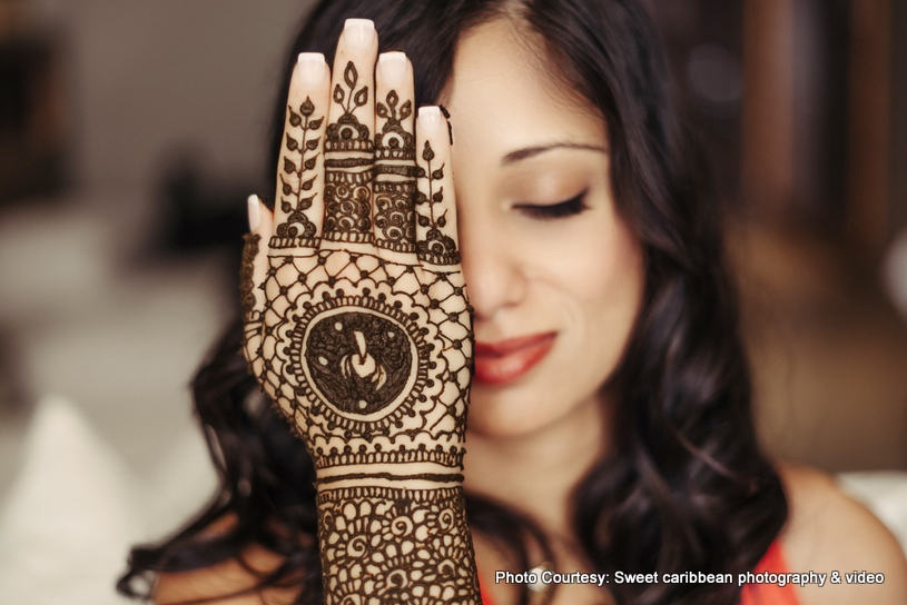
{"label": "henna pattern on the ring finger, below its bare tip", "polygon": [[412,116],[413,103],[406,100],[400,109],[395,90],[387,93],[387,105],[378,102],[375,111],[386,122],[375,138],[375,242],[398,252],[415,251],[415,138],[401,122]]}

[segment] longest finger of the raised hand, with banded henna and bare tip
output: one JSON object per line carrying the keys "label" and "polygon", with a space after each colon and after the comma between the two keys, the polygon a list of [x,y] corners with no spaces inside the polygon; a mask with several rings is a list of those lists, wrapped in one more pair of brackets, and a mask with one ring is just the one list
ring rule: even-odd
{"label": "longest finger of the raised hand, with banded henna and bare tip", "polygon": [[372,241],[374,73],[378,38],[367,19],[347,19],[331,80],[325,135],[324,238]]}

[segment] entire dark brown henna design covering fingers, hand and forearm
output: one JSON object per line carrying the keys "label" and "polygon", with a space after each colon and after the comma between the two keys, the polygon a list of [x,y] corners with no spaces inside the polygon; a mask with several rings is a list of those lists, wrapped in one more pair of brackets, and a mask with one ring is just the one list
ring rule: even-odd
{"label": "entire dark brown henna design covering fingers, hand and forearm", "polygon": [[[316,467],[325,603],[481,605],[460,487],[472,307],[436,206],[444,166],[432,167],[426,143],[428,171],[416,167],[415,139],[403,127],[413,105],[394,90],[376,103],[384,121],[373,145],[354,116],[371,83],[358,85],[348,62],[332,93],[342,116],[324,135],[323,238],[374,240],[435,266],[415,255],[383,258],[375,247],[319,249],[305,212],[323,118],[307,98],[298,111],[288,108],[297,135],[285,137],[279,168],[286,219],[266,259],[256,261],[260,238],[246,238],[246,358]],[[418,216],[417,178],[428,191]],[[416,218],[428,234],[418,245]]]}

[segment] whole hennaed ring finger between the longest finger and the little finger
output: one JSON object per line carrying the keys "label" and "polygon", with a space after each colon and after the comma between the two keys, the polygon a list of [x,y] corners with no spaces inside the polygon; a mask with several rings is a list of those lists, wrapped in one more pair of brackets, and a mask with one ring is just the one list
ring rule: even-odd
{"label": "whole hennaed ring finger between the longest finger and the little finger", "polygon": [[378,57],[375,92],[375,245],[383,257],[412,265],[416,260],[416,165],[413,69],[406,54],[384,52]]}

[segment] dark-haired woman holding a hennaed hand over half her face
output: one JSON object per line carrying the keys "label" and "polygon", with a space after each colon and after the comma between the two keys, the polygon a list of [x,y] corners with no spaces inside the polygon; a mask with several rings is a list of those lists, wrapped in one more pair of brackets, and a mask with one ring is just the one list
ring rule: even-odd
{"label": "dark-haired woman holding a hennaed hand over half her face", "polygon": [[[243,327],[195,383],[221,492],[136,548],[121,589],[907,599],[878,522],[759,452],[719,220],[634,1],[322,2],[293,60]],[[574,581],[531,596],[496,574],[540,566]],[[886,579],[741,587],[753,569]]]}

